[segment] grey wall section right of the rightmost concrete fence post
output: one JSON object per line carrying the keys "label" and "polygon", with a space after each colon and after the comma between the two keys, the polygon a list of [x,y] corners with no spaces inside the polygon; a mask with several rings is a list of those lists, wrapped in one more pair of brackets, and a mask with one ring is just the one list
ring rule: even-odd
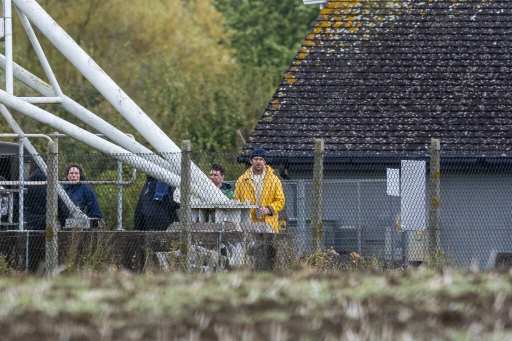
{"label": "grey wall section right of the rightmost concrete fence post", "polygon": [[497,253],[512,252],[512,176],[443,174],[441,241],[463,267],[493,267]]}

